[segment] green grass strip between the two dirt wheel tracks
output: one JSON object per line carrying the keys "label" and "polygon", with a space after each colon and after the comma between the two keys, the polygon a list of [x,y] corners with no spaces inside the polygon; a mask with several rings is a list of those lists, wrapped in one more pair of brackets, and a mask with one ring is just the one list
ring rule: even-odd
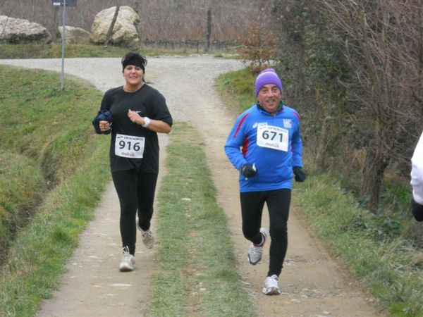
{"label": "green grass strip between the two dirt wheel tracks", "polygon": [[198,133],[185,123],[174,125],[167,153],[157,213],[160,268],[147,315],[256,316]]}

